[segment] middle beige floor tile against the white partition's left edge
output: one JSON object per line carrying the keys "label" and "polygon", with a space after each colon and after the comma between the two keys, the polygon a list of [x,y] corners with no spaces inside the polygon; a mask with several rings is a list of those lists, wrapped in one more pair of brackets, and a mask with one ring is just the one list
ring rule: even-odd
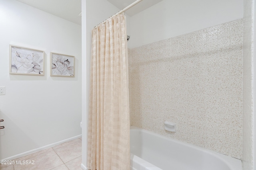
{"label": "middle beige floor tile against the white partition's left edge", "polygon": [[82,141],[66,145],[64,147],[58,148],[55,152],[60,156],[64,163],[82,156]]}

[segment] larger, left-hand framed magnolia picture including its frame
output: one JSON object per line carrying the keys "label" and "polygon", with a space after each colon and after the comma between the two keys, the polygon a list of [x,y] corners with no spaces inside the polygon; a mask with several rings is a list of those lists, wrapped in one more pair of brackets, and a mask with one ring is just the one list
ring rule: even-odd
{"label": "larger, left-hand framed magnolia picture including its frame", "polygon": [[10,74],[44,76],[44,51],[10,45]]}

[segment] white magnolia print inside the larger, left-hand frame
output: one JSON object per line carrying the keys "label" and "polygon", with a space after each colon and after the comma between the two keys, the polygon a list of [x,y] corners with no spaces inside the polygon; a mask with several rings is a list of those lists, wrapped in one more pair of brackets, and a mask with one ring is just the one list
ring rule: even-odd
{"label": "white magnolia print inside the larger, left-hand frame", "polygon": [[12,72],[43,74],[43,58],[34,51],[12,47]]}

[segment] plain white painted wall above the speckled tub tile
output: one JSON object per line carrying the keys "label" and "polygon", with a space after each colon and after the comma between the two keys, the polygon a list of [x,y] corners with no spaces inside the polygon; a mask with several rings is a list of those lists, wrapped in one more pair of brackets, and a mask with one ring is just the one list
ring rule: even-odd
{"label": "plain white painted wall above the speckled tub tile", "polygon": [[132,16],[131,47],[243,18],[242,0],[163,0]]}

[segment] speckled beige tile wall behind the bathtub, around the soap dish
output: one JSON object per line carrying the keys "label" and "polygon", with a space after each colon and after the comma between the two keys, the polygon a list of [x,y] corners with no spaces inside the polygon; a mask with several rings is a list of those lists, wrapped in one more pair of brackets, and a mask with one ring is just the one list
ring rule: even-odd
{"label": "speckled beige tile wall behind the bathtub, around the soap dish", "polygon": [[131,125],[241,159],[242,24],[129,49]]}

